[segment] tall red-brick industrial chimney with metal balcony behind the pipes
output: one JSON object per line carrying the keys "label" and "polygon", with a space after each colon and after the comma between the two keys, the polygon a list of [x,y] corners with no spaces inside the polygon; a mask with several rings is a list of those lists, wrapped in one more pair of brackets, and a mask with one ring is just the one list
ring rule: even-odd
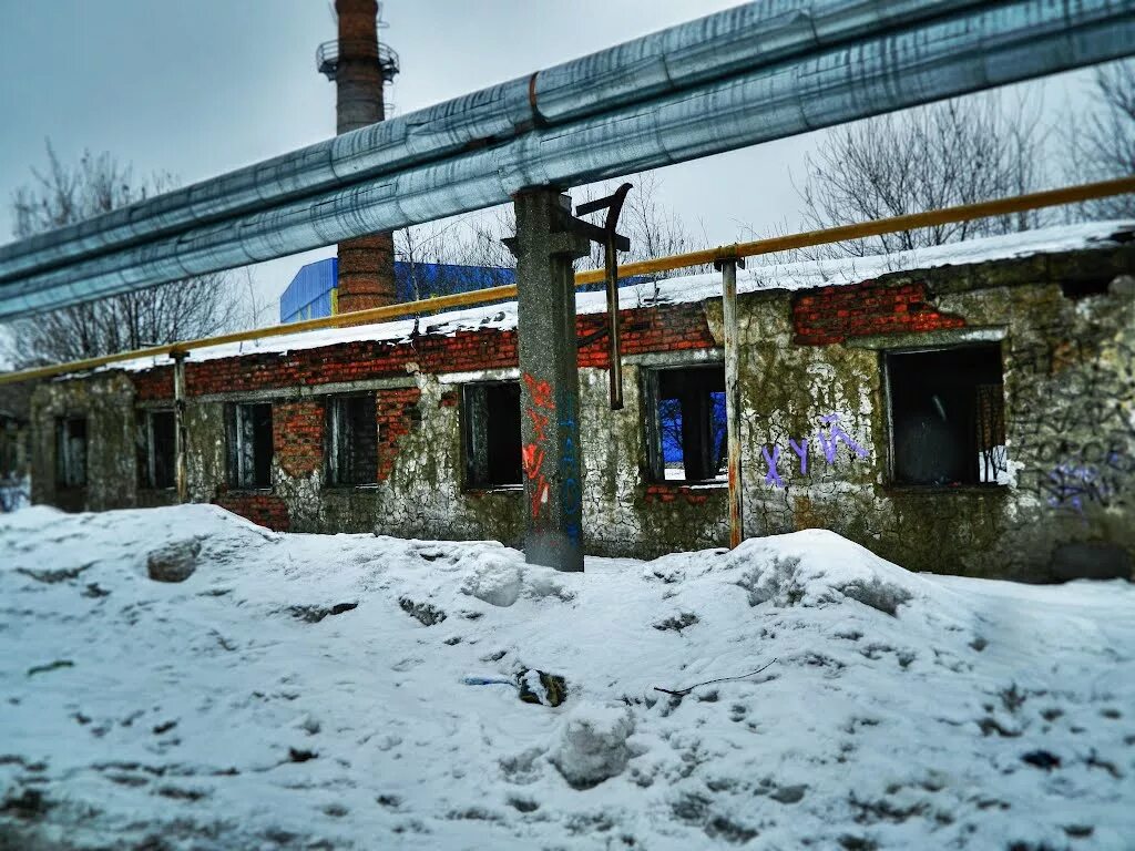
{"label": "tall red-brick industrial chimney with metal balcony behind the pipes", "polygon": [[[335,81],[337,133],[385,118],[382,87],[398,73],[398,56],[378,43],[377,0],[335,0],[339,37],[319,45],[316,62]],[[372,234],[339,243],[338,312],[396,301],[394,238]]]}

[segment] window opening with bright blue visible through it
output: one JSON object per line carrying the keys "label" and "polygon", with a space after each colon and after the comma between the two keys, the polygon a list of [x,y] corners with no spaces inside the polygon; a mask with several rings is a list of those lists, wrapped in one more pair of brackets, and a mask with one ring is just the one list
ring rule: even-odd
{"label": "window opening with bright blue visible through it", "polygon": [[644,389],[651,480],[728,478],[725,369],[650,370]]}

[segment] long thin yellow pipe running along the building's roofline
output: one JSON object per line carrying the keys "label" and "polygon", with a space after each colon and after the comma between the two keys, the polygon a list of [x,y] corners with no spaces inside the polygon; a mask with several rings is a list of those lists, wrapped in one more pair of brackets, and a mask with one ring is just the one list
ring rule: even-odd
{"label": "long thin yellow pipe running along the building's roofline", "polygon": [[[671,271],[684,269],[691,266],[705,266],[715,260],[730,260],[737,258],[758,256],[762,254],[775,254],[780,251],[791,248],[802,248],[810,245],[825,245],[846,239],[859,239],[866,236],[880,236],[882,234],[894,234],[902,230],[914,230],[915,228],[931,227],[934,225],[947,225],[955,221],[968,221],[969,219],[981,219],[989,216],[1006,216],[1025,210],[1036,210],[1044,207],[1060,207],[1062,204],[1074,204],[1081,201],[1091,201],[1113,195],[1127,195],[1135,193],[1135,175],[1120,177],[1113,180],[1101,180],[1099,183],[1081,184],[1060,189],[1049,189],[1045,192],[1033,192],[1026,195],[1017,195],[1008,199],[997,199],[994,201],[983,201],[976,204],[962,204],[959,207],[947,207],[940,210],[931,210],[922,213],[910,213],[907,216],[896,216],[888,219],[876,219],[875,221],[859,222],[856,225],[841,225],[834,228],[821,230],[809,230],[802,234],[791,234],[788,236],[775,236],[768,239],[757,239],[748,243],[734,243],[733,245],[722,245],[716,248],[695,251],[687,254],[674,254],[657,260],[647,260],[638,263],[627,263],[619,267],[620,278],[631,278],[636,275],[649,272]],[[589,284],[598,284],[606,278],[605,270],[589,270],[575,273],[575,286],[583,287]],[[216,337],[203,337],[201,339],[171,343],[163,346],[151,346],[150,348],[135,349],[133,352],[119,352],[117,354],[89,357],[82,361],[53,364],[51,366],[36,366],[15,372],[0,372],[0,386],[15,384],[18,381],[30,381],[40,378],[51,378],[68,372],[82,372],[85,370],[106,366],[121,361],[133,361],[142,357],[160,357],[177,351],[188,352],[205,346],[217,346],[225,343],[243,343],[266,337],[283,337],[302,331],[312,331],[323,328],[338,328],[344,325],[358,325],[362,322],[379,322],[387,319],[412,315],[414,313],[432,313],[446,307],[468,306],[473,304],[485,304],[506,298],[516,297],[516,287],[490,287],[487,289],[476,289],[471,293],[457,293],[437,298],[424,298],[417,302],[404,302],[392,304],[386,307],[373,307],[371,310],[355,311],[354,313],[339,313],[334,317],[321,319],[308,319],[302,322],[289,322],[288,325],[269,326],[268,328],[254,328],[246,331],[235,331],[222,334]]]}

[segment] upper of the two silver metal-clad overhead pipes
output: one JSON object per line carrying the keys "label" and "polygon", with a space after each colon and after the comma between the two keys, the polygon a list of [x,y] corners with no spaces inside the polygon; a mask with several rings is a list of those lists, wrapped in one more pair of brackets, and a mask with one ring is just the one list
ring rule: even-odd
{"label": "upper of the two silver metal-clad overhead pipes", "polygon": [[359,125],[340,120],[337,138],[0,246],[0,281],[980,5],[766,0],[740,6],[365,129],[350,132]]}

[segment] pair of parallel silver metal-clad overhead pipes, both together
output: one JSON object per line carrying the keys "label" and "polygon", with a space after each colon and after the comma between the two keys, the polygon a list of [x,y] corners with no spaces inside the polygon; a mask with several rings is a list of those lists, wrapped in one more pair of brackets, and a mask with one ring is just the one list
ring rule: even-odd
{"label": "pair of parallel silver metal-clad overhead pipes, both together", "polygon": [[765,0],[0,247],[0,320],[1135,53],[1135,0]]}

